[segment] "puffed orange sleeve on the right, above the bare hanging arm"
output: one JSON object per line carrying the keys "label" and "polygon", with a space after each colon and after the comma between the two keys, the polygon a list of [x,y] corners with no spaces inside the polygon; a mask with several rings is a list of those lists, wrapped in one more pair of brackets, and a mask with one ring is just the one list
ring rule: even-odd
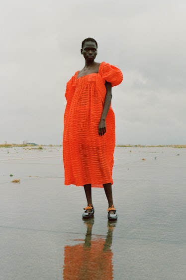
{"label": "puffed orange sleeve on the right, above the bare hanging arm", "polygon": [[120,84],[123,80],[121,70],[106,62],[101,62],[99,66],[99,74],[104,81],[111,83],[112,86]]}

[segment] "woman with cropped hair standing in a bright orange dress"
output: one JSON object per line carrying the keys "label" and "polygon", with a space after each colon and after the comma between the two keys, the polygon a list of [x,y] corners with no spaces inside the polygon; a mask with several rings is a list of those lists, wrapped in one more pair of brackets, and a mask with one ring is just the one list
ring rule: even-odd
{"label": "woman with cropped hair standing in a bright orange dress", "polygon": [[103,187],[108,219],[117,220],[112,199],[115,117],[111,87],[121,83],[122,72],[105,62],[95,62],[97,42],[86,38],[81,53],[85,66],[68,81],[65,97],[63,160],[65,185],[84,186],[88,206],[83,218],[94,214],[92,187]]}

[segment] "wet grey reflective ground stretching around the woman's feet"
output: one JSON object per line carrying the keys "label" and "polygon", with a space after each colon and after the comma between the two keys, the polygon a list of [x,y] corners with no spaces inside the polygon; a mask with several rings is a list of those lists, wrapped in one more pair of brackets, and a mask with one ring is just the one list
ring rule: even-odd
{"label": "wet grey reflective ground stretching around the woman's feet", "polygon": [[186,279],[186,148],[116,147],[114,159],[118,221],[97,188],[83,221],[62,147],[0,148],[0,280]]}

